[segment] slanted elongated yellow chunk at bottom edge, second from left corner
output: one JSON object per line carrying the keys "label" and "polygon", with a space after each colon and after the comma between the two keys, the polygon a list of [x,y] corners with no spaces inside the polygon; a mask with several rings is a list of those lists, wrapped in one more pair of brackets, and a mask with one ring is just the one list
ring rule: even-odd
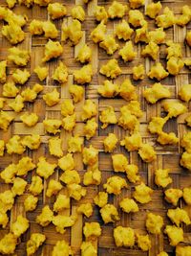
{"label": "slanted elongated yellow chunk at bottom edge, second from left corner", "polygon": [[27,242],[27,256],[32,256],[45,240],[44,234],[32,233],[30,240]]}

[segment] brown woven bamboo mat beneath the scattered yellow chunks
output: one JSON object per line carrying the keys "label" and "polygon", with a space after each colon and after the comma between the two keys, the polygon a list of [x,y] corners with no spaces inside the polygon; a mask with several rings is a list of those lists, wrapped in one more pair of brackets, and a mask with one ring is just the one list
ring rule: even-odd
{"label": "brown woven bamboo mat beneath the scattered yellow chunks", "polygon": [[[56,2],[63,2],[61,0],[58,0]],[[120,1],[123,3],[126,3],[127,1]],[[150,0],[146,0],[146,4],[148,4]],[[161,1],[162,6],[168,6],[170,9],[172,9],[176,14],[180,13],[180,8],[185,4],[190,4],[190,0],[166,0]],[[5,6],[5,2],[3,0],[0,0],[0,3],[2,6]],[[45,89],[43,93],[41,93],[37,100],[33,104],[27,104],[25,106],[24,111],[29,110],[36,112],[39,115],[39,123],[34,128],[26,128],[20,121],[19,116],[21,113],[19,113],[13,124],[11,124],[9,130],[7,132],[0,131],[0,139],[4,139],[6,142],[11,138],[13,134],[19,134],[19,135],[26,135],[31,133],[40,134],[42,137],[43,143],[41,144],[40,148],[36,151],[26,151],[25,155],[29,155],[32,157],[33,162],[37,163],[38,158],[40,155],[45,155],[49,161],[56,162],[56,158],[50,155],[48,150],[48,138],[49,136],[44,132],[42,121],[46,118],[61,118],[60,114],[60,105],[55,105],[53,107],[48,107],[45,105],[44,101],[42,100],[42,95],[46,93],[47,91],[51,91],[54,87],[56,87],[60,91],[60,95],[62,99],[65,98],[71,98],[69,93],[69,85],[73,83],[73,71],[74,69],[77,69],[80,67],[80,64],[74,60],[76,56],[76,52],[79,47],[81,47],[85,42],[87,42],[91,48],[93,49],[93,60],[92,64],[94,67],[94,78],[93,81],[90,83],[90,85],[87,85],[85,88],[85,96],[82,102],[75,105],[75,111],[77,114],[77,124],[74,128],[73,134],[80,134],[80,136],[83,136],[83,126],[84,124],[80,121],[80,115],[82,111],[82,105],[84,104],[85,99],[93,99],[97,106],[98,110],[101,111],[105,108],[106,105],[113,105],[115,108],[115,111],[119,113],[120,106],[125,104],[125,101],[121,99],[114,99],[114,100],[107,100],[103,99],[98,96],[96,90],[98,85],[102,84],[102,82],[105,80],[102,76],[98,74],[98,70],[100,66],[107,62],[110,57],[107,56],[105,51],[98,48],[96,44],[92,42],[90,39],[90,33],[91,31],[96,27],[96,22],[94,18],[94,9],[96,5],[102,5],[102,6],[108,6],[111,4],[112,1],[104,1],[104,0],[92,0],[88,5],[83,5],[81,0],[65,0],[64,4],[67,7],[68,13],[70,10],[74,7],[75,4],[82,5],[86,11],[86,20],[82,23],[82,29],[83,29],[83,37],[80,40],[79,44],[75,47],[71,47],[69,43],[63,44],[64,47],[64,53],[62,55],[62,59],[66,63],[66,65],[69,68],[69,81],[65,86],[59,86],[57,83],[55,83],[51,76],[53,74],[53,70],[56,66],[57,60],[50,61],[47,63],[47,66],[49,67],[49,77],[48,79],[43,83],[45,85]],[[38,6],[32,7],[32,9],[27,9],[24,6],[16,6],[13,9],[16,13],[26,13],[29,17],[28,25],[32,21],[33,18],[35,19],[42,19],[46,20],[48,19],[48,14],[46,11],[46,8],[40,8]],[[143,8],[142,11],[144,12]],[[69,16],[66,16],[64,19],[66,21],[70,19]],[[147,19],[147,18],[146,18]],[[150,19],[147,19],[149,22],[149,28],[152,28],[153,21]],[[117,25],[117,20],[115,21],[109,21],[108,22],[108,34],[113,34],[115,30],[115,26]],[[54,21],[54,24],[56,25],[56,28],[61,30],[61,24],[62,19]],[[32,60],[28,64],[27,68],[30,70],[32,76],[30,80],[26,83],[25,86],[29,86],[34,84],[35,82],[39,82],[37,80],[37,77],[33,73],[33,69],[36,65],[41,63],[41,59],[44,55],[44,45],[46,43],[46,40],[42,36],[32,36],[29,33],[28,25],[25,26],[25,33],[26,38],[25,40],[20,44],[20,47],[23,49],[28,49],[32,53]],[[1,25],[2,27],[2,22]],[[184,43],[184,37],[186,34],[186,30],[191,30],[191,24],[187,25],[186,27],[180,28],[178,26],[174,26],[173,28],[170,28],[167,30],[167,38],[173,39],[175,42],[180,42],[182,45],[182,53],[183,58],[191,58],[191,52],[187,45]],[[60,33],[59,33],[60,38]],[[8,49],[11,47],[8,40],[2,37],[0,34],[0,60],[3,60],[7,58],[8,55]],[[117,78],[117,82],[120,83],[125,78],[132,78],[132,67],[134,65],[137,65],[138,63],[143,63],[146,68],[146,72],[149,71],[151,65],[153,64],[153,61],[150,61],[148,58],[141,58],[140,52],[142,49],[142,45],[138,44],[135,46],[135,49],[138,52],[137,58],[130,63],[124,63],[122,60],[119,60],[119,65],[122,68],[122,75]],[[115,53],[112,58],[117,58],[118,54]],[[164,47],[160,46],[160,55],[159,59],[162,62],[164,60]],[[14,70],[15,66],[10,65],[8,68],[8,73],[11,74],[12,70]],[[150,163],[145,164],[143,163],[140,158],[138,157],[137,152],[130,152],[124,150],[123,147],[117,146],[117,149],[115,152],[122,152],[126,154],[129,158],[130,163],[134,163],[138,165],[138,169],[141,175],[142,180],[145,181],[147,185],[149,185],[151,188],[155,190],[153,199],[150,203],[139,205],[139,211],[136,214],[125,214],[121,210],[119,210],[118,202],[120,198],[124,198],[125,196],[132,195],[132,192],[134,190],[134,184],[130,184],[130,187],[128,190],[123,190],[122,193],[117,197],[109,197],[109,201],[111,203],[114,203],[115,206],[118,207],[118,211],[120,214],[120,221],[117,221],[114,224],[107,224],[105,225],[103,221],[101,221],[98,208],[94,206],[94,215],[90,218],[82,218],[79,217],[76,223],[72,228],[67,228],[67,231],[64,235],[61,235],[57,233],[54,229],[53,224],[50,224],[48,227],[41,227],[37,223],[35,223],[36,216],[41,212],[41,209],[43,205],[50,204],[51,207],[53,207],[54,197],[52,198],[46,198],[46,188],[47,184],[50,180],[44,181],[44,191],[43,194],[39,197],[38,207],[35,211],[32,213],[25,213],[24,210],[24,199],[27,196],[27,192],[25,195],[17,197],[15,200],[15,204],[13,208],[11,209],[10,213],[10,223],[6,227],[6,229],[0,230],[0,238],[2,238],[6,233],[9,232],[10,224],[11,222],[16,220],[16,217],[19,214],[22,214],[23,216],[27,216],[27,218],[30,220],[30,228],[29,230],[22,236],[21,243],[18,244],[16,248],[16,255],[18,256],[24,256],[26,255],[26,242],[29,240],[31,234],[33,232],[40,232],[44,233],[46,235],[46,242],[45,244],[38,249],[38,251],[35,253],[35,255],[44,255],[49,256],[51,255],[51,252],[53,250],[53,245],[58,240],[65,239],[68,241],[72,247],[74,248],[74,255],[80,255],[80,244],[83,240],[83,234],[82,234],[82,227],[83,223],[85,221],[99,221],[102,227],[102,234],[101,237],[98,239],[98,255],[110,255],[110,256],[156,256],[160,251],[165,250],[169,253],[169,255],[175,255],[174,248],[169,245],[168,239],[163,234],[160,234],[159,236],[156,235],[150,235],[151,241],[152,241],[152,247],[149,250],[149,252],[142,252],[138,249],[138,247],[135,247],[134,249],[128,249],[124,247],[117,248],[114,242],[113,238],[113,229],[118,224],[125,225],[125,226],[131,226],[135,230],[137,230],[140,233],[145,233],[145,216],[147,210],[150,210],[151,212],[158,213],[164,218],[164,222],[170,223],[170,221],[166,217],[167,209],[171,207],[170,204],[164,201],[163,199],[163,192],[161,189],[159,189],[155,183],[154,183],[154,171],[157,168],[169,168],[170,169],[170,175],[173,178],[172,187],[174,188],[183,188],[191,185],[191,173],[186,172],[182,168],[180,168],[179,161],[180,161],[180,153],[182,152],[182,149],[180,146],[165,146],[162,147],[156,142],[156,136],[150,134],[147,131],[147,124],[150,121],[150,118],[152,116],[159,116],[163,115],[163,110],[161,108],[161,102],[159,102],[156,105],[148,105],[144,100],[142,96],[142,92],[144,88],[146,88],[146,85],[152,84],[153,81],[149,80],[148,78],[145,78],[143,81],[133,81],[134,84],[137,85],[137,92],[139,96],[139,102],[141,104],[141,109],[143,110],[143,117],[140,119],[140,133],[143,138],[143,142],[149,142],[150,144],[154,145],[155,150],[157,151],[157,160]],[[191,74],[189,74],[189,70],[187,68],[183,68],[180,72],[180,74],[177,77],[168,77],[161,81],[163,84],[167,84],[167,86],[170,88],[172,92],[172,98],[178,97],[178,90],[180,88],[180,85],[182,83],[191,83]],[[2,91],[2,86],[0,86],[0,94]],[[169,100],[171,101],[171,100]],[[188,104],[188,107],[191,105]],[[6,105],[6,110],[11,111],[11,108]],[[178,119],[171,119],[167,122],[167,126],[165,126],[165,131],[174,131],[179,138],[182,137],[183,133],[188,129],[185,126],[184,123],[184,117],[185,115],[181,115]],[[98,117],[97,117],[98,122]],[[115,132],[117,134],[118,139],[124,138],[126,131],[122,128],[119,128],[118,126],[109,126],[106,129],[101,129],[100,124],[99,128],[96,132],[96,136],[93,137],[90,141],[85,141],[85,145],[92,144],[96,149],[99,149],[99,169],[102,172],[102,181],[99,186],[88,186],[87,187],[87,196],[85,198],[82,198],[80,202],[72,200],[71,202],[71,209],[70,211],[67,211],[66,214],[72,214],[74,213],[77,205],[79,205],[82,202],[93,202],[93,198],[96,196],[96,193],[98,191],[103,191],[102,185],[106,182],[106,179],[113,175],[113,169],[112,169],[112,161],[111,161],[111,154],[110,153],[104,153],[103,151],[103,139],[109,132]],[[66,132],[62,129],[60,133],[60,137],[63,139],[63,151],[67,151],[67,139],[71,136],[71,133]],[[20,156],[18,155],[9,155],[8,153],[5,154],[4,157],[0,158],[0,170],[3,170],[5,167],[7,167],[11,162],[17,163]],[[80,153],[74,153],[74,160],[76,163],[76,169],[79,172],[80,176],[83,177],[85,173],[85,168],[82,163],[82,157]],[[59,170],[55,171],[55,173],[52,175],[52,178],[58,180]],[[32,175],[34,174],[34,171],[31,172],[28,176],[28,182],[31,182]],[[11,188],[10,185],[5,184],[2,182],[0,183],[0,192],[3,192],[7,189]],[[27,190],[26,190],[27,191]],[[184,206],[183,200],[180,200],[180,207]],[[190,209],[191,210],[191,209]],[[183,226],[184,230],[184,243],[185,244],[191,244],[191,227],[185,227]]]}

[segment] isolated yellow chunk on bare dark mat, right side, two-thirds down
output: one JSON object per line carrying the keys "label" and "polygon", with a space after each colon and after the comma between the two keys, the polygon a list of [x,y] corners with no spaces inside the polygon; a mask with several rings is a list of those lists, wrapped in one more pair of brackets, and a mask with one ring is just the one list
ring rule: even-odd
{"label": "isolated yellow chunk on bare dark mat, right side, two-thirds down", "polygon": [[155,171],[156,185],[165,188],[173,182],[172,178],[168,175],[169,169],[157,169]]}

